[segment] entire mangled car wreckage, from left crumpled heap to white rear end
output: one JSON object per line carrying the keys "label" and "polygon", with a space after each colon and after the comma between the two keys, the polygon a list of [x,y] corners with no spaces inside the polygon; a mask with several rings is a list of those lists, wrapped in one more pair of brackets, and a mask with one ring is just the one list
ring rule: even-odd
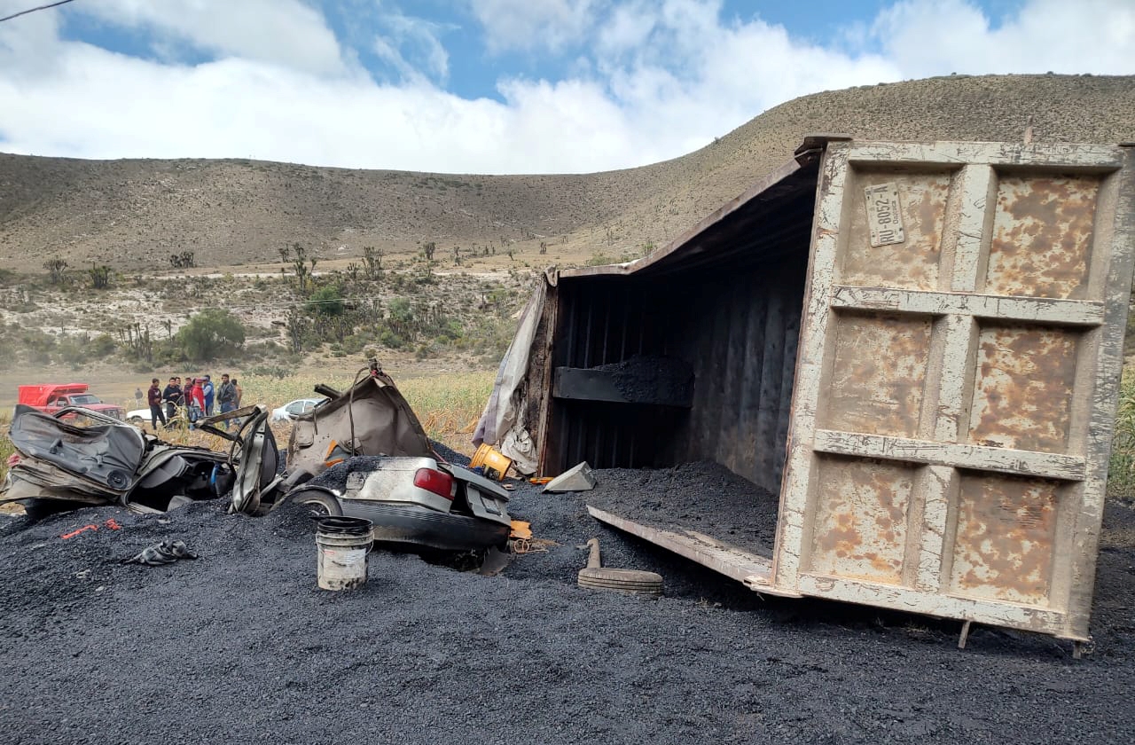
{"label": "entire mangled car wreckage, from left crumpled heap to white rear end", "polygon": [[[445,462],[377,361],[347,391],[316,392],[327,400],[297,416],[286,463],[261,407],[197,420],[230,443],[228,452],[166,443],[94,411],[17,407],[10,436],[19,460],[0,501],[33,513],[112,503],[166,511],[227,495],[230,512],[266,514],[292,502],[312,514],[367,518],[376,541],[395,545],[463,552],[507,541],[508,493]],[[76,411],[92,424],[78,426]],[[239,428],[225,428],[235,420]]]}

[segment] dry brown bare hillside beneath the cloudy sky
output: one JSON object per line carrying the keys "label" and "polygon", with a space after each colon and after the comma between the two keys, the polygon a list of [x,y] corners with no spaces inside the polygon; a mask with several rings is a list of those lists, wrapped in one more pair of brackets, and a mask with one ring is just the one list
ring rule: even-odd
{"label": "dry brown bare hillside beneath the cloudy sky", "polygon": [[791,157],[808,132],[859,139],[1135,140],[1135,76],[950,76],[796,99],[682,158],[588,175],[477,176],[250,160],[89,161],[0,154],[0,268],[50,258],[121,271],[323,261],[434,241],[570,260],[662,245]]}

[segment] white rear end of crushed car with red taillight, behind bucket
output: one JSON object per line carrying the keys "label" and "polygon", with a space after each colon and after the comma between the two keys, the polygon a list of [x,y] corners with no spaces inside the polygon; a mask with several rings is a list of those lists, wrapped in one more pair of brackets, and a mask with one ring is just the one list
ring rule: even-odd
{"label": "white rear end of crushed car with red taillight, behind bucket", "polygon": [[504,545],[512,529],[499,484],[434,458],[352,458],[287,500],[318,514],[365,518],[373,539],[387,544],[474,551]]}

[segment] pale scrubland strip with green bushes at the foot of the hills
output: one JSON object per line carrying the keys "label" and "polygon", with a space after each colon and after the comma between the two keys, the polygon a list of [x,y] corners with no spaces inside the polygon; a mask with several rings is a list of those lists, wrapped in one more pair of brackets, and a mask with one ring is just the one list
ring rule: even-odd
{"label": "pale scrubland strip with green bushes at the foot of the hills", "polygon": [[[461,249],[462,263],[478,250]],[[373,246],[363,246],[361,260],[345,270],[316,275],[316,259],[302,245],[279,253],[289,265],[276,277],[110,273],[103,290],[93,287],[90,270],[68,269],[62,260],[49,260],[40,274],[5,273],[11,282],[0,285],[8,311],[0,319],[0,370],[77,370],[106,361],[144,372],[208,360],[294,370],[312,355],[381,357],[384,350],[493,365],[507,348],[532,276],[521,268],[491,282],[438,274],[438,262],[421,256],[384,266]]]}

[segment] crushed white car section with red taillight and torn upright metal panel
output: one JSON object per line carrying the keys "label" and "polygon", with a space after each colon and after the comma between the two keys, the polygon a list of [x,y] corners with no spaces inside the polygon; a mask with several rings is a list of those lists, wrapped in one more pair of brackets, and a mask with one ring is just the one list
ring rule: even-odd
{"label": "crushed white car section with red taillight and torn upright metal panel", "polygon": [[[347,391],[320,385],[316,393],[328,401],[296,417],[283,472],[269,412],[253,415],[241,435],[234,511],[258,514],[300,503],[313,514],[367,518],[379,542],[446,551],[507,541],[508,493],[445,462],[377,361],[360,370]],[[220,420],[197,426],[233,438],[216,428]]]}

